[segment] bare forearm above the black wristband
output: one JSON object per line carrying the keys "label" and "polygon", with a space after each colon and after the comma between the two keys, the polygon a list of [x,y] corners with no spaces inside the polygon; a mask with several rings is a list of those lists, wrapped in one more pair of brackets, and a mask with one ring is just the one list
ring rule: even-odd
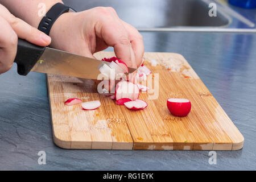
{"label": "bare forearm above the black wristband", "polygon": [[46,13],[53,5],[61,2],[61,0],[0,0],[0,3],[7,7],[9,11],[16,17],[23,19],[33,27],[38,27],[42,16],[39,16],[39,4],[46,5]]}

